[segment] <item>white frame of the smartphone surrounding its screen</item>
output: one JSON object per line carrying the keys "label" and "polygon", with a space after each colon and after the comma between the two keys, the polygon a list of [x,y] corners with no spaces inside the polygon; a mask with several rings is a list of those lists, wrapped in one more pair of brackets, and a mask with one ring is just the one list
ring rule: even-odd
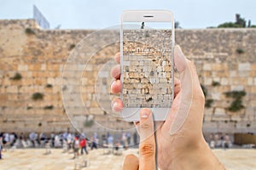
{"label": "white frame of the smartphone surrounding its screen", "polygon": [[[154,16],[154,17],[145,17]],[[171,22],[172,23],[172,73],[174,73],[174,45],[175,45],[175,31],[174,31],[174,17],[169,10],[125,10],[121,15],[120,26],[120,65],[123,62],[123,22]],[[123,68],[121,66],[120,80],[123,82]],[[123,100],[123,86],[121,88],[120,99]],[[174,75],[172,75],[172,101],[174,99]],[[138,122],[140,120],[140,111],[143,108],[126,108],[121,111],[120,116],[126,122]],[[154,115],[154,121],[165,121],[167,114],[171,108],[148,108]],[[131,114],[132,113],[132,114]]]}

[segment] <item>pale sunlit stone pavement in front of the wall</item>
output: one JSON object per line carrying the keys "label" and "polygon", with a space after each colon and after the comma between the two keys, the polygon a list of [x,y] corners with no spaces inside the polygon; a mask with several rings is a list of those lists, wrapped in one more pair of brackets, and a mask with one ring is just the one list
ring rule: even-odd
{"label": "pale sunlit stone pavement in front of the wall", "polygon": [[[256,150],[213,150],[220,161],[228,170],[253,170],[256,169]],[[61,149],[51,150],[51,154],[45,155],[44,149],[24,149],[8,150],[3,152],[3,160],[0,160],[1,170],[70,170],[74,169],[76,162],[72,153],[62,153]],[[137,150],[125,150],[122,156],[113,154],[104,155],[104,150],[90,150],[86,158],[89,159],[89,167],[84,170],[96,169],[121,169],[125,155],[133,153],[137,155]]]}

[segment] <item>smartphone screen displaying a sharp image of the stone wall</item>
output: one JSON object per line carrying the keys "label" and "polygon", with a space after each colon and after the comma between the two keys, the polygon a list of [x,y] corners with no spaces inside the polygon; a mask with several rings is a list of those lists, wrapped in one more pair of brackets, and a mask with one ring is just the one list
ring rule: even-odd
{"label": "smartphone screen displaying a sharp image of the stone wall", "polygon": [[171,22],[124,22],[121,81],[125,108],[171,108]]}

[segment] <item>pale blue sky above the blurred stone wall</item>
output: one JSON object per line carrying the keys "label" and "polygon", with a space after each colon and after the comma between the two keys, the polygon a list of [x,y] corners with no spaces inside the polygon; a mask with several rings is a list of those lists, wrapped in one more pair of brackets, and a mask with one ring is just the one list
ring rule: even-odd
{"label": "pale blue sky above the blurred stone wall", "polygon": [[0,20],[32,18],[33,4],[51,28],[61,25],[61,29],[119,25],[125,9],[169,9],[187,29],[235,21],[235,14],[256,25],[255,0],[0,0]]}

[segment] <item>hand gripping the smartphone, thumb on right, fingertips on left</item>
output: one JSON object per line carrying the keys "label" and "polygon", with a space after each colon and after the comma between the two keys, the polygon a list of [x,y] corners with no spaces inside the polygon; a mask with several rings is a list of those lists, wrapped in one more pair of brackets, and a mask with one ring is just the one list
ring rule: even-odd
{"label": "hand gripping the smartphone, thumb on right, fingertips on left", "polygon": [[[119,63],[119,54],[115,55],[115,60]],[[174,61],[180,82],[175,81],[172,108],[165,122],[155,122],[158,166],[162,170],[221,166],[202,135],[205,98],[195,65],[185,58],[179,46],[175,46]],[[116,79],[111,85],[112,93],[118,94],[121,91],[119,65],[113,67],[111,75]],[[122,101],[113,99],[113,111],[121,111],[122,108]],[[142,126],[141,122],[135,124],[137,129]]]}

